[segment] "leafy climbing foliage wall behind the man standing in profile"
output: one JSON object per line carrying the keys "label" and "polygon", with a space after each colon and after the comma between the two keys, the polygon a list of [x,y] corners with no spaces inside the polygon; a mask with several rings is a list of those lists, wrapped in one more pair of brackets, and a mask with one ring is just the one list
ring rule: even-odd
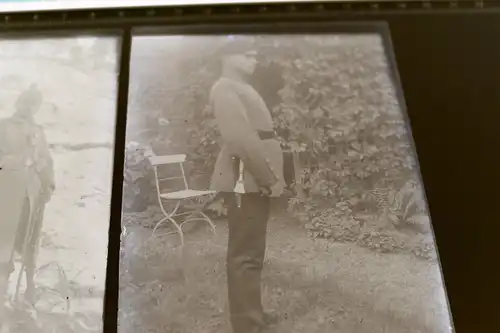
{"label": "leafy climbing foliage wall behind the man standing in profile", "polygon": [[[208,186],[219,150],[207,105],[221,42],[186,39],[182,59],[156,61],[149,70],[146,62],[153,62],[144,59],[132,72],[142,83],[132,113],[147,129],[134,131],[144,133],[134,139],[187,153],[190,180],[200,188]],[[380,38],[263,36],[254,42],[263,57],[252,82],[272,109],[283,148],[298,156],[289,208],[310,235],[399,251],[408,247],[400,234],[411,230],[414,239],[425,234],[428,245],[414,151]],[[155,74],[159,66],[168,79]],[[152,112],[145,117],[144,109]]]}

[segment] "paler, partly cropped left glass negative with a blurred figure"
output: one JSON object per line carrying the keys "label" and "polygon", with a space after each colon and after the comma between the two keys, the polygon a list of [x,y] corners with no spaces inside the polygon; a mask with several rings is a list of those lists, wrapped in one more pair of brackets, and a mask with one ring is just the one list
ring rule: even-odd
{"label": "paler, partly cropped left glass negative with a blurred figure", "polygon": [[0,42],[1,332],[101,332],[116,38]]}

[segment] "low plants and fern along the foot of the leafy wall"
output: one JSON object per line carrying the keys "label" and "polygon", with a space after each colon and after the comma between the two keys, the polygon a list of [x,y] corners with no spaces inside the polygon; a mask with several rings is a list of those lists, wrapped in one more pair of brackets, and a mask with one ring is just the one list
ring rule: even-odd
{"label": "low plants and fern along the foot of the leafy wall", "polygon": [[[390,213],[378,217],[356,211],[348,202],[339,202],[320,211],[307,206],[309,211],[298,216],[305,223],[311,221],[306,224],[311,237],[356,243],[377,252],[408,252],[424,259],[434,259],[436,254],[429,220],[424,207],[419,207],[423,201],[416,201],[416,194],[411,192],[414,185],[407,184],[395,191]],[[301,205],[300,201],[291,200],[290,210],[302,211]],[[390,215],[392,219],[388,218]],[[408,231],[411,231],[409,235]]]}

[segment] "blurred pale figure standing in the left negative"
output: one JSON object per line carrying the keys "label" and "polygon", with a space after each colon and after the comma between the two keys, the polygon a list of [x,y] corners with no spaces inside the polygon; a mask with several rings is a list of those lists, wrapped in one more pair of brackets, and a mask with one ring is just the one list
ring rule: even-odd
{"label": "blurred pale figure standing in the left negative", "polygon": [[43,129],[34,120],[42,99],[32,85],[18,97],[14,115],[0,121],[1,307],[16,254],[26,271],[26,300],[34,302],[35,258],[43,214],[55,189],[52,157]]}

